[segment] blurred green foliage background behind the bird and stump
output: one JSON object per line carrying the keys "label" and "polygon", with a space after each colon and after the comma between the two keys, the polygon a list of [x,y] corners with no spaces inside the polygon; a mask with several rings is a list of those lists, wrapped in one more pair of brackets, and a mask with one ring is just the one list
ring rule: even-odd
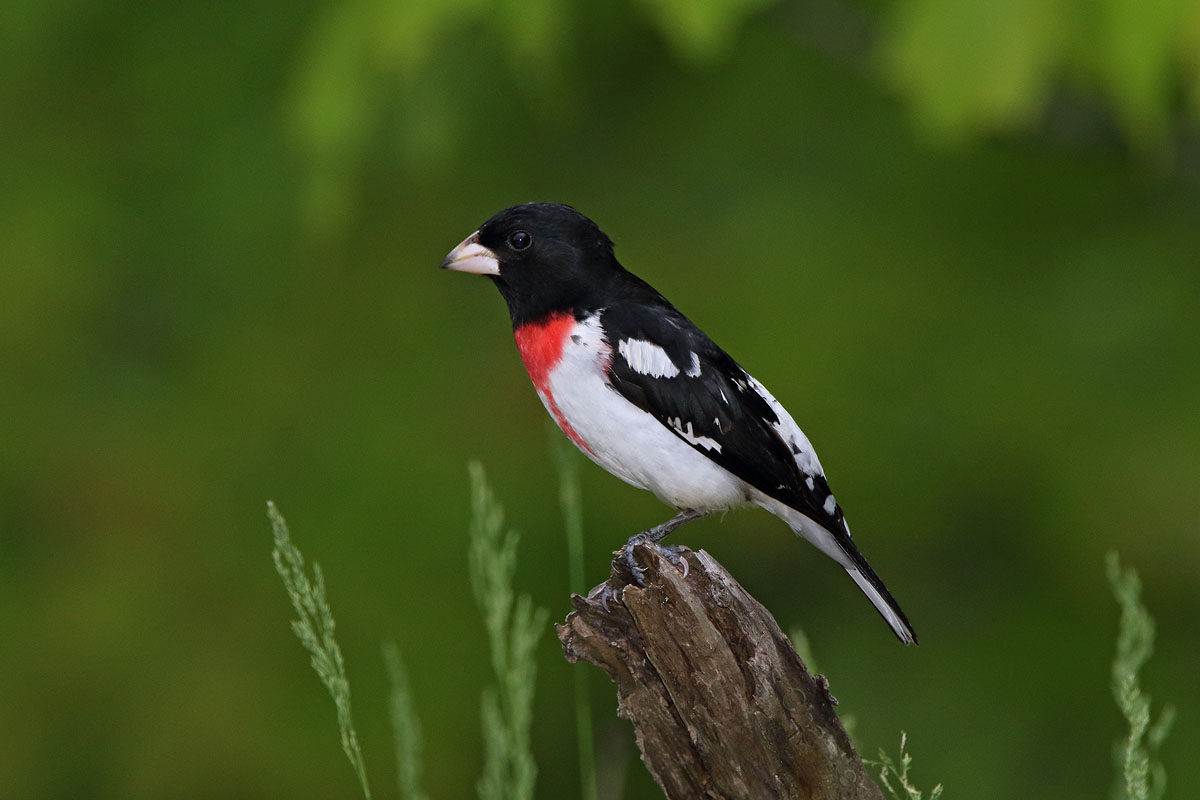
{"label": "blurred green foliage background behind the bird and stump", "polygon": [[[430,793],[473,794],[468,459],[521,588],[560,619],[569,587],[503,302],[436,267],[534,199],[814,440],[920,648],[766,513],[679,541],[804,627],[864,752],[905,729],[947,796],[1106,796],[1115,547],[1169,796],[1200,795],[1198,53],[1194,0],[5,4],[0,796],[354,796],[268,499],[325,570],[376,795],[386,637]],[[590,584],[668,511],[582,479]],[[578,669],[547,630],[542,798],[578,793]],[[590,686],[606,781],[658,796]]]}

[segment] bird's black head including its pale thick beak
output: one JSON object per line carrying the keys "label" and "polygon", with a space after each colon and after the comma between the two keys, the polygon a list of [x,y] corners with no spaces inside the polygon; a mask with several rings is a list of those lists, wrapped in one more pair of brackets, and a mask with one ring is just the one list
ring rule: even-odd
{"label": "bird's black head including its pale thick beak", "polygon": [[556,311],[602,305],[604,289],[624,272],[612,240],[569,205],[527,203],[500,211],[455,247],[442,267],[486,275],[514,326]]}

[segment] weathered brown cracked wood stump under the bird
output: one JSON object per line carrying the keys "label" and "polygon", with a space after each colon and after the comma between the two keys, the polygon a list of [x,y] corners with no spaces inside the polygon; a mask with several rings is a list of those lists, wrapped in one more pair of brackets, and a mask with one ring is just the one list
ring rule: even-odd
{"label": "weathered brown cracked wood stump under the bird", "polygon": [[[882,800],[812,676],[774,618],[704,551],[635,549],[558,625],[566,660],[617,684],[617,714],[671,800]],[[607,609],[602,601],[610,588]]]}

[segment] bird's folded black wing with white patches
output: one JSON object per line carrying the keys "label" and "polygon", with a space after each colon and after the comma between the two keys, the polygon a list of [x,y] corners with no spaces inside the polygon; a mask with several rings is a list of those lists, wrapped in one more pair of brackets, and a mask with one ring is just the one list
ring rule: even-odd
{"label": "bird's folded black wing with white patches", "polygon": [[[808,443],[786,441],[775,427],[779,415],[746,371],[666,300],[654,300],[660,302],[626,301],[601,312],[613,349],[612,386],[763,494],[838,537],[847,535],[841,509],[829,513],[823,507],[830,494],[824,475],[820,469],[805,474],[797,464]],[[673,369],[650,349],[655,347]]]}

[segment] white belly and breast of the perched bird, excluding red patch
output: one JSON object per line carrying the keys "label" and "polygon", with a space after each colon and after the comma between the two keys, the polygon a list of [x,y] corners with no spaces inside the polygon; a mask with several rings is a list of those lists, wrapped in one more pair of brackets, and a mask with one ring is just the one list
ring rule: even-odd
{"label": "white belly and breast of the perched bird, excluding red patch", "polygon": [[[749,487],[732,473],[684,443],[637,408],[604,377],[612,357],[594,320],[575,326],[563,356],[548,375],[552,399],[542,403],[562,415],[592,461],[677,509],[718,511],[748,500]],[[560,422],[562,425],[562,422]]]}

